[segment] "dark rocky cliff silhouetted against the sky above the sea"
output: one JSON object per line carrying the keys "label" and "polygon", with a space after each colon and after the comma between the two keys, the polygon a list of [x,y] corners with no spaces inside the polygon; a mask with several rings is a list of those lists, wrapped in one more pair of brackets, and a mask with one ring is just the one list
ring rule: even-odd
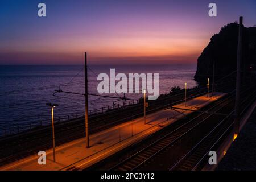
{"label": "dark rocky cliff silhouetted against the sky above the sea", "polygon": [[[238,26],[230,23],[212,36],[197,60],[196,81],[205,84],[207,77],[212,77],[213,61],[216,80],[236,70]],[[243,27],[242,69],[248,70],[251,66],[256,66],[256,27]]]}

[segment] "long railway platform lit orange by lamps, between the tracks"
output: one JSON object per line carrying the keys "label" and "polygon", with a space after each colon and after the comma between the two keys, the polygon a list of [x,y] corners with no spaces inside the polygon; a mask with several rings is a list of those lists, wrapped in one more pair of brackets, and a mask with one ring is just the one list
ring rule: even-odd
{"label": "long railway platform lit orange by lamps, between the tracks", "polygon": [[179,112],[172,109],[162,109],[155,113],[148,114],[146,115],[146,124],[144,123],[144,117],[139,117],[133,121],[128,121],[99,133],[92,134],[89,137],[90,148],[85,147],[85,138],[57,146],[55,148],[56,162],[53,162],[53,152],[51,149],[46,151],[46,164],[40,165],[38,163],[40,156],[32,155],[2,166],[0,170],[55,171],[87,168],[115,154],[115,152],[137,143],[148,135],[163,129],[163,127],[171,125],[178,119],[184,117],[184,114],[189,114],[193,112],[193,110],[199,110],[201,107],[210,104],[210,102],[218,100],[225,94],[226,93],[214,93],[214,96],[208,98],[204,95],[188,100],[186,105],[184,102],[174,105],[174,107],[181,108],[178,110]]}

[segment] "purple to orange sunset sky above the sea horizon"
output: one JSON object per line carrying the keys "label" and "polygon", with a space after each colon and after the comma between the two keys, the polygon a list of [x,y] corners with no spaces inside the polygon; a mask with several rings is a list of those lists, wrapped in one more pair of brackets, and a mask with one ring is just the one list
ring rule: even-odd
{"label": "purple to orange sunset sky above the sea horizon", "polygon": [[[47,6],[39,18],[38,3]],[[208,16],[210,2],[217,17]],[[196,64],[225,24],[256,24],[255,0],[13,1],[0,5],[0,64]]]}

